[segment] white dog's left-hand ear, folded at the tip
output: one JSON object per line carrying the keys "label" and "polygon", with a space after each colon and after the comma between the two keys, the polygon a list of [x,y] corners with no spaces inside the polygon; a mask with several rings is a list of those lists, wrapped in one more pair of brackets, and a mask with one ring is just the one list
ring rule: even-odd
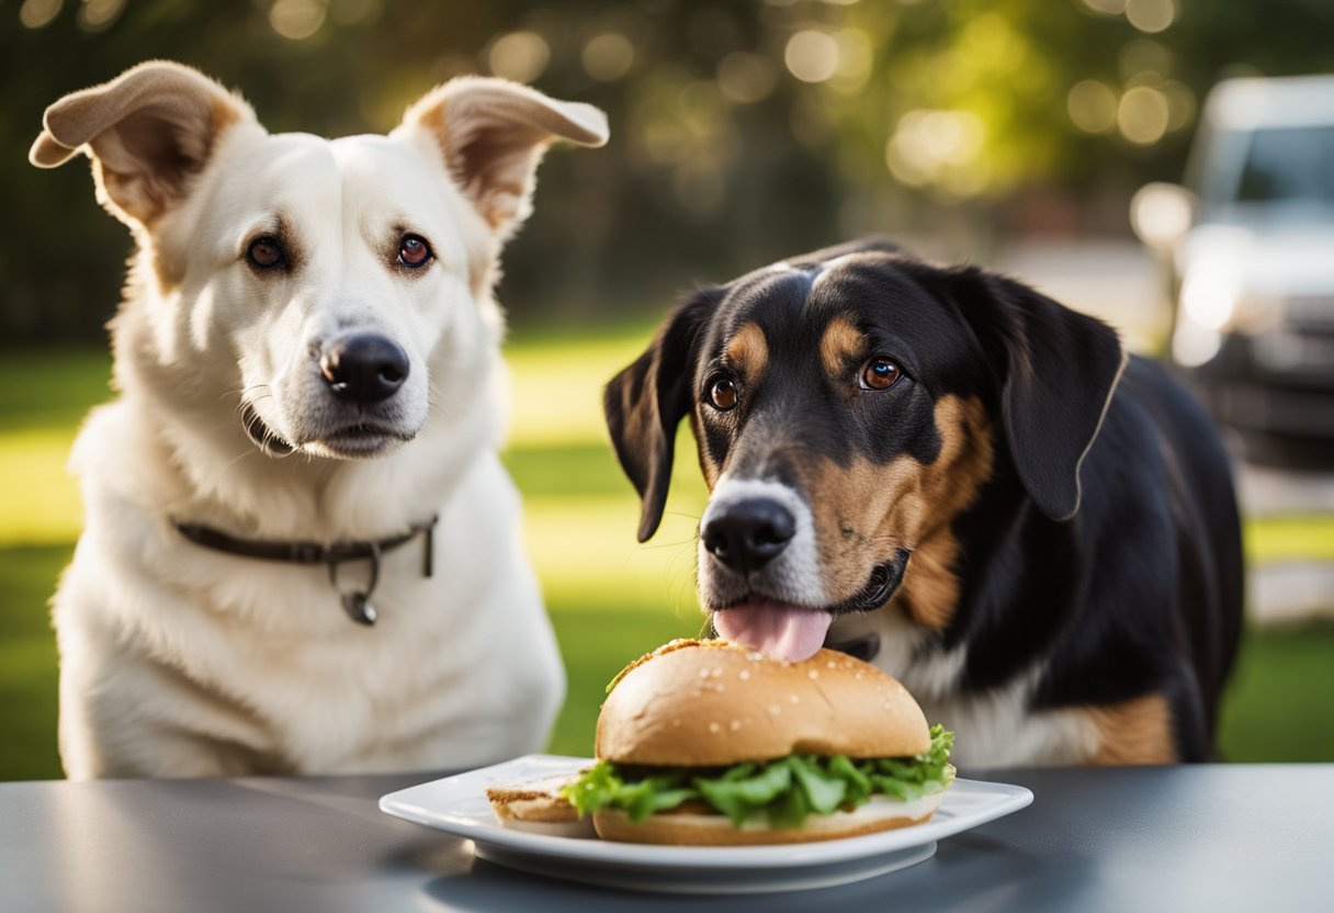
{"label": "white dog's left-hand ear, folded at the tip", "polygon": [[153,60],[47,108],[28,160],[55,168],[87,154],[97,200],[131,227],[151,226],[184,196],[217,136],[243,120],[255,113],[221,85]]}

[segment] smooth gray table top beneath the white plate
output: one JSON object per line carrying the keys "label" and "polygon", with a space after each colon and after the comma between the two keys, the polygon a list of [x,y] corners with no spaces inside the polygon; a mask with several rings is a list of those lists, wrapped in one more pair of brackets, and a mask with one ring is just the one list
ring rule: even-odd
{"label": "smooth gray table top beneath the white plate", "polygon": [[[968,772],[1034,804],[842,888],[727,898],[828,909],[1334,909],[1334,765]],[[522,874],[382,814],[434,778],[0,784],[0,910],[692,910]],[[702,902],[703,901],[703,902]]]}

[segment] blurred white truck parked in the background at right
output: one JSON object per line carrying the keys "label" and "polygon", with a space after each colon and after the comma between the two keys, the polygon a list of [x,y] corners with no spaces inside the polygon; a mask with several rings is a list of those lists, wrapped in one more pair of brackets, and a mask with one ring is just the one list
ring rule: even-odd
{"label": "blurred white truck parked in the background at right", "polygon": [[1257,462],[1334,467],[1334,75],[1234,79],[1185,187],[1131,203],[1173,296],[1173,362]]}

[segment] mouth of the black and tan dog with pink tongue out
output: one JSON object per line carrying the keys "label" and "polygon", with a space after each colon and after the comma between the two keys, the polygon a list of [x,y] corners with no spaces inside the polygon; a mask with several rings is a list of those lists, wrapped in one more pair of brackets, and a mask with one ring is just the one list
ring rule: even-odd
{"label": "mouth of the black and tan dog with pink tongue out", "polygon": [[799,606],[747,594],[712,613],[714,630],[724,639],[767,655],[800,662],[824,646],[835,615],[879,609],[903,582],[912,553],[899,549],[894,558],[876,565],[866,585],[832,606]]}

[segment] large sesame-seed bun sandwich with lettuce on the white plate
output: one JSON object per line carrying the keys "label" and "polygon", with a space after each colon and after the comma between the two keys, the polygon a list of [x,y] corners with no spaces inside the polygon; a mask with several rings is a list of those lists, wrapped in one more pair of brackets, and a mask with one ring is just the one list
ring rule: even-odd
{"label": "large sesame-seed bun sandwich with lettuce on the white plate", "polygon": [[562,796],[603,840],[834,840],[928,821],[952,742],[896,679],[846,654],[672,641],[608,686],[596,761]]}

